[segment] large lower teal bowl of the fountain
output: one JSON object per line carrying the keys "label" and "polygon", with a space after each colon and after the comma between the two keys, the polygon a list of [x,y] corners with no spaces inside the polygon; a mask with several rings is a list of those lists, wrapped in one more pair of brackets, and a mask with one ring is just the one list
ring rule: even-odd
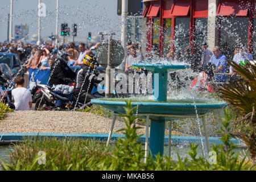
{"label": "large lower teal bowl of the fountain", "polygon": [[[113,100],[113,101],[112,101]],[[124,99],[122,99],[124,100]],[[125,99],[129,100],[129,98]],[[125,101],[114,99],[93,99],[92,104],[100,105],[107,109],[113,110],[115,113],[125,114]],[[180,118],[182,116],[195,116],[206,114],[215,109],[222,109],[226,106],[224,102],[220,103],[196,103],[196,104],[180,104],[170,102],[131,102],[132,106],[138,105],[138,114],[163,114],[174,115]]]}

